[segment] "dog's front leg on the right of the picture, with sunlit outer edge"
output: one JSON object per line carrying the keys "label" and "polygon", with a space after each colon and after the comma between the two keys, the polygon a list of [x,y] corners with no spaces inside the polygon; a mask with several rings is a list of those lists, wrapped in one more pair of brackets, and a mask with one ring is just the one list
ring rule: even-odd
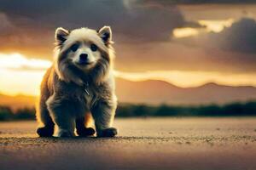
{"label": "dog's front leg on the right of the picture, with sunlit outer edge", "polygon": [[113,137],[117,129],[112,127],[116,103],[100,100],[91,110],[95,120],[97,137]]}

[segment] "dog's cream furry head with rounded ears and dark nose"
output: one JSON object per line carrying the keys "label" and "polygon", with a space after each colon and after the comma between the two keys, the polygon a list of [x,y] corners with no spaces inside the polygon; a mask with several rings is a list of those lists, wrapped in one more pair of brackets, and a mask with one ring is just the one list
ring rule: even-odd
{"label": "dog's cream furry head with rounded ears and dark nose", "polygon": [[113,59],[112,31],[79,28],[55,31],[55,71],[65,82],[83,85],[84,81],[101,82],[111,69]]}

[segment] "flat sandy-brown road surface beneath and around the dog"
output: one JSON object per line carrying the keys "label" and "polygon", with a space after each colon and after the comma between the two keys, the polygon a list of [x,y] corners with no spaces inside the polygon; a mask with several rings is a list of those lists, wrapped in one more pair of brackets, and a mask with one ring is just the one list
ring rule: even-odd
{"label": "flat sandy-brown road surface beneath and around the dog", "polygon": [[0,122],[0,169],[256,169],[256,117],[116,119],[113,139],[38,138]]}

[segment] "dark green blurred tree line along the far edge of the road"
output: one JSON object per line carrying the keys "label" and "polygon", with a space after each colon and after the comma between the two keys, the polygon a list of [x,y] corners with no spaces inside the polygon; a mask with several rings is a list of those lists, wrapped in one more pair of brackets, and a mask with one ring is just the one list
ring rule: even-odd
{"label": "dark green blurred tree line along the far edge of the road", "polygon": [[[256,116],[256,101],[227,105],[143,105],[119,104],[117,117],[145,116]],[[34,120],[35,109],[12,111],[0,106],[0,121]]]}

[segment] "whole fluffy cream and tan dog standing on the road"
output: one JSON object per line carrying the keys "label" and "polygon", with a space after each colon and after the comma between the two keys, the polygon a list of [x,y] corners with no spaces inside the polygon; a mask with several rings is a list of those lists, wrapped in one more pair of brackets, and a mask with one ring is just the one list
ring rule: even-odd
{"label": "whole fluffy cream and tan dog standing on the road", "polygon": [[[85,126],[91,116],[98,137],[117,134],[112,127],[117,106],[112,43],[109,26],[99,31],[56,29],[54,64],[41,84],[37,111],[39,136],[52,136],[55,125],[59,137],[74,136],[75,127],[79,136],[93,135],[95,130]],[[96,50],[92,44],[96,45]],[[87,54],[85,65],[79,63],[81,54]],[[86,116],[88,113],[91,116]]]}

